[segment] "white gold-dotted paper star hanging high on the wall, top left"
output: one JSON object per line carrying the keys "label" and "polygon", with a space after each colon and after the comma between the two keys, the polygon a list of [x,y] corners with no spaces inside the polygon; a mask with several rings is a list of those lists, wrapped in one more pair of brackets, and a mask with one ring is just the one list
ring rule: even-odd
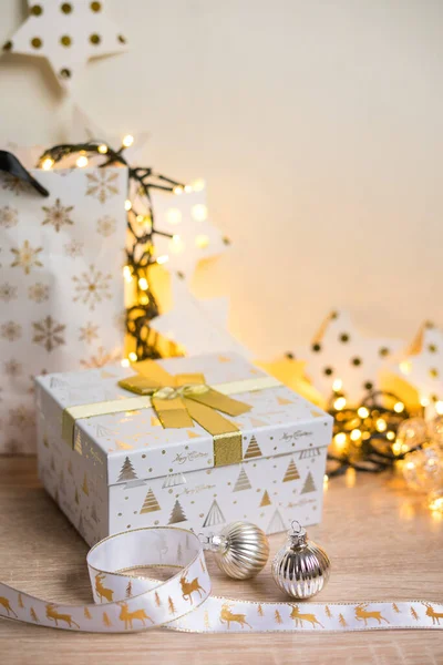
{"label": "white gold-dotted paper star hanging high on the wall, top left", "polygon": [[29,0],[29,17],[3,51],[47,58],[69,89],[87,60],[127,50],[126,39],[107,19],[105,2]]}

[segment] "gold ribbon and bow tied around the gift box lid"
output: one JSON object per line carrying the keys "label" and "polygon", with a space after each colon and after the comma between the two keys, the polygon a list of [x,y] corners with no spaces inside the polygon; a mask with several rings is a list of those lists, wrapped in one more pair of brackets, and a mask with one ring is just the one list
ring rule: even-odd
{"label": "gold ribbon and bow tied around the gift box lid", "polygon": [[[133,366],[136,375],[122,379],[119,386],[137,397],[68,407],[63,410],[63,439],[74,443],[75,421],[121,411],[153,408],[165,429],[192,428],[198,422],[214,439],[214,466],[236,464],[243,460],[241,431],[227,416],[241,416],[250,405],[229,395],[280,386],[272,377],[257,377],[240,381],[207,386],[202,374],[173,376],[153,360]],[[219,413],[222,411],[222,413]]]}

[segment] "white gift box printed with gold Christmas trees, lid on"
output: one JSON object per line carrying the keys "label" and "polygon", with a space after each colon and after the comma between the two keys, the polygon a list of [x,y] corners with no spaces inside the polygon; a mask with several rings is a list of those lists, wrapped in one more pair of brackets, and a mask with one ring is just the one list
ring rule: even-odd
{"label": "white gift box printed with gold Christmas trees, lid on", "polygon": [[[234,386],[230,397],[251,407],[227,417],[240,431],[239,457],[225,463],[229,456],[222,459],[216,448],[225,443],[196,422],[163,428],[150,397],[137,397],[143,408],[123,410],[134,395],[119,381],[134,368],[113,365],[39,377],[40,478],[90,545],[158,524],[210,533],[248,520],[275,533],[291,520],[320,521],[329,415],[234,354],[157,362],[174,376],[203,374],[220,391]],[[82,409],[74,408],[97,403],[99,416],[81,417]],[[110,405],[116,405],[115,412]],[[68,430],[66,409],[76,413]]]}

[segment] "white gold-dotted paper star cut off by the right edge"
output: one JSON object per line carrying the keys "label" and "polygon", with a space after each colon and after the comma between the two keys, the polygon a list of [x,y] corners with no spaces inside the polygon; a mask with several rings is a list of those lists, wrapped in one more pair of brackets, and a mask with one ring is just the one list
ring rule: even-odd
{"label": "white gold-dotted paper star cut off by the right edge", "polygon": [[418,391],[427,415],[443,413],[442,330],[432,324],[422,326],[394,371]]}

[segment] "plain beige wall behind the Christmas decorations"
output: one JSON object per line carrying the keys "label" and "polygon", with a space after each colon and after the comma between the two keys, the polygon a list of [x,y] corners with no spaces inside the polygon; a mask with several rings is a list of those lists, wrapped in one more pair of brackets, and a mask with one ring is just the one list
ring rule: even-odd
{"label": "plain beige wall behind the Christmas decorations", "polygon": [[[130,38],[76,100],[150,131],[148,165],[209,184],[233,248],[195,280],[231,296],[255,355],[307,342],[332,306],[370,332],[443,326],[441,0],[107,0]],[[0,2],[0,42],[24,17]],[[48,65],[0,60],[0,143],[63,137]]]}

